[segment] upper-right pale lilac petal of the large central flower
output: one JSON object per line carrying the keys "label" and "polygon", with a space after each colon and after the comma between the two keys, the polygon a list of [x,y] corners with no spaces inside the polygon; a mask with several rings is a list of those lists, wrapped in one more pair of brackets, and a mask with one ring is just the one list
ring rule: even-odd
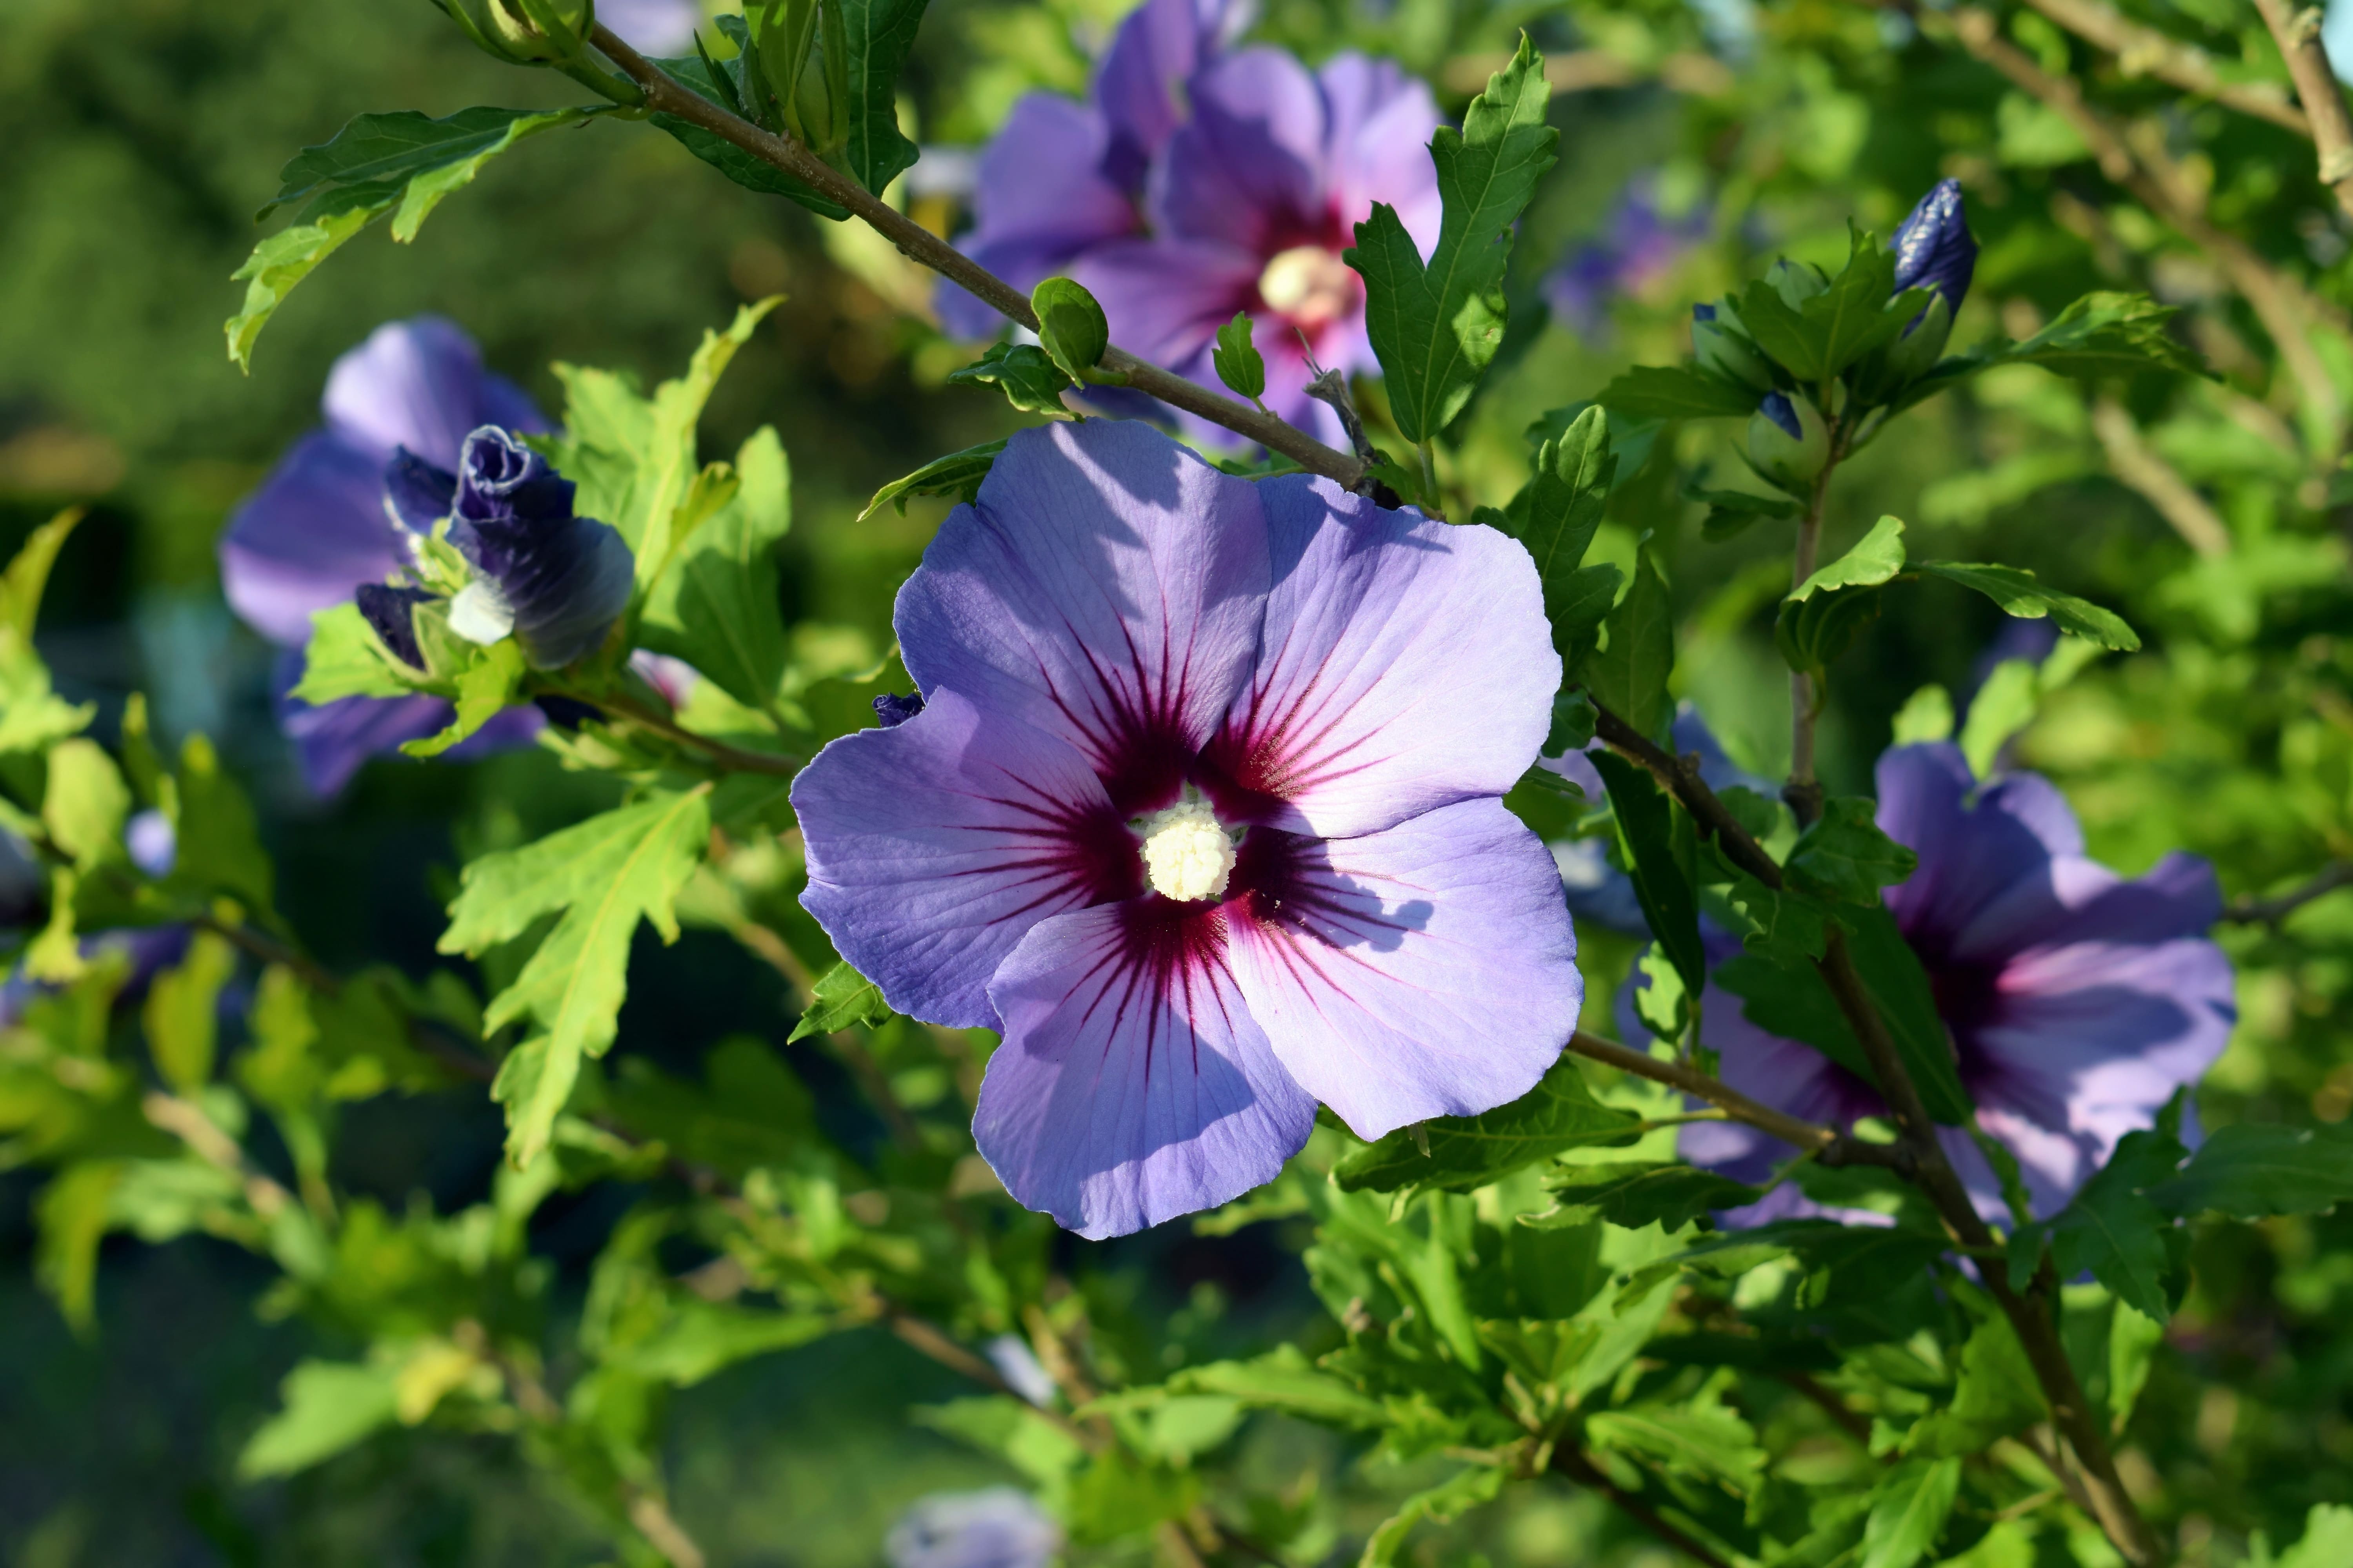
{"label": "upper-right pale lilac petal of the large central flower", "polygon": [[1275,588],[1249,686],[1202,755],[1238,795],[1221,816],[1332,839],[1511,790],[1560,686],[1527,550],[1329,480],[1259,494]]}

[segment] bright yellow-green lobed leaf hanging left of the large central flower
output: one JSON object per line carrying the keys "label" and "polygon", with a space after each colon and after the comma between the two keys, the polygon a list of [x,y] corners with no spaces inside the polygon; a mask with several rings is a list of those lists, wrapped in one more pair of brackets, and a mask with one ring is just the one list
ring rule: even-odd
{"label": "bright yellow-green lobed leaf hanging left of the large central flower", "polygon": [[593,816],[466,867],[442,952],[480,954],[560,912],[522,973],[482,1016],[487,1030],[518,1018],[536,1025],[492,1086],[508,1107],[508,1154],[518,1166],[546,1147],[581,1056],[612,1046],[638,922],[649,919],[664,940],[678,940],[673,905],[701,865],[708,837],[711,790],[704,785]]}

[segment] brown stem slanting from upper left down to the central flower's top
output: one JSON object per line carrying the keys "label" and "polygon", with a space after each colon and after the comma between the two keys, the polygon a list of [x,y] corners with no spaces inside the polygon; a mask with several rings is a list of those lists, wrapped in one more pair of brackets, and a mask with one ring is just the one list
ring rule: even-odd
{"label": "brown stem slanting from upper left down to the central flower's top", "polygon": [[[645,106],[654,113],[675,115],[678,120],[701,127],[713,136],[751,153],[760,162],[784,169],[826,200],[838,202],[864,219],[875,233],[896,244],[899,254],[908,261],[918,261],[941,277],[962,284],[969,294],[984,301],[991,310],[1012,320],[1016,327],[1028,327],[1031,331],[1038,329],[1038,315],[1031,310],[1028,296],[1024,296],[1021,289],[972,261],[929,228],[894,209],[889,202],[878,200],[854,179],[847,179],[816,158],[816,153],[805,148],[800,141],[776,136],[760,129],[751,120],[727,113],[614,38],[612,28],[598,26],[595,33],[591,33],[591,40],[640,87],[640,92],[645,92]],[[1224,425],[1235,435],[1259,442],[1268,451],[1280,451],[1308,473],[1339,480],[1348,489],[1355,489],[1355,484],[1365,477],[1365,463],[1360,458],[1332,451],[1308,433],[1287,425],[1273,414],[1261,414],[1249,404],[1219,397],[1217,393],[1165,371],[1158,364],[1139,360],[1122,348],[1104,350],[1101,364],[1106,371],[1125,374],[1127,386],[1139,393],[1148,393],[1151,397],[1158,397],[1174,409],[1184,409],[1186,414],[1198,414],[1214,425]]]}

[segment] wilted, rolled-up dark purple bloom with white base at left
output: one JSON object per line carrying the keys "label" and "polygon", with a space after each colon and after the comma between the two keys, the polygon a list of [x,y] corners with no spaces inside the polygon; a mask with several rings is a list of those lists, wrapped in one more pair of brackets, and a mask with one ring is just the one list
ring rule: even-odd
{"label": "wilted, rolled-up dark purple bloom with white base at left", "polygon": [[[475,569],[449,602],[449,630],[485,644],[513,635],[534,670],[595,651],[628,609],[638,569],[619,529],[572,515],[572,480],[499,425],[466,437],[454,475],[412,451],[386,475],[395,520],[424,536],[447,517],[449,543]],[[395,623],[412,614],[381,595],[372,602]]]}

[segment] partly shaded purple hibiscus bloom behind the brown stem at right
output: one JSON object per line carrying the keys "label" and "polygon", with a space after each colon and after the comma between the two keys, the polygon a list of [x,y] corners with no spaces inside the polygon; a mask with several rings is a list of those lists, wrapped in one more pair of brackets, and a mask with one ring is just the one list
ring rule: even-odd
{"label": "partly shaded purple hibiscus bloom behind the brown stem at right", "polygon": [[[2231,961],[2205,938],[2221,914],[2214,872],[2174,853],[2146,877],[2118,877],[2082,853],[2075,813],[2047,778],[2007,773],[1979,788],[1953,745],[1897,748],[1880,757],[1878,783],[1880,827],[1920,856],[1911,879],[1887,889],[1887,907],[1934,985],[1979,1126],[2017,1154],[2047,1215],[2231,1039]],[[1718,947],[1711,957],[1734,950],[1727,938]],[[1885,1114],[1861,1079],[1755,1027],[1715,985],[1701,1027],[1741,1093],[1833,1126]],[[1977,1206],[2002,1218],[1977,1145],[1958,1128],[1941,1138]],[[1682,1152],[1741,1180],[1760,1180],[1784,1154],[1737,1124],[1682,1128]],[[1800,1208],[1779,1187],[1739,1218]]]}

